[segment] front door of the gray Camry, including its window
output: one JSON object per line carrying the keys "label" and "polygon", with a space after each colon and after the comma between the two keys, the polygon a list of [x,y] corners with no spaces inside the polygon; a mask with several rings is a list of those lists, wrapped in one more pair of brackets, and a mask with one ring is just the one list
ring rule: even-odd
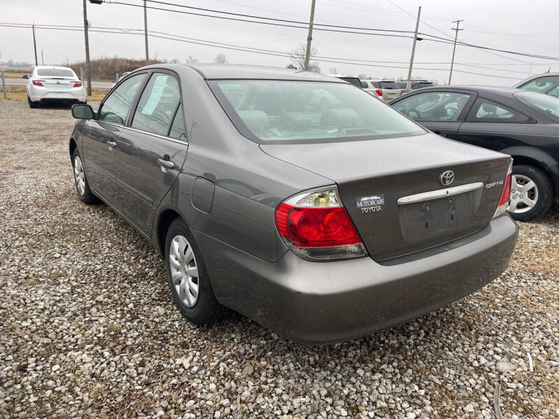
{"label": "front door of the gray Camry, including its window", "polygon": [[87,180],[95,193],[117,210],[120,207],[115,147],[145,75],[134,75],[111,91],[99,106],[97,118],[87,121],[82,131],[82,156]]}

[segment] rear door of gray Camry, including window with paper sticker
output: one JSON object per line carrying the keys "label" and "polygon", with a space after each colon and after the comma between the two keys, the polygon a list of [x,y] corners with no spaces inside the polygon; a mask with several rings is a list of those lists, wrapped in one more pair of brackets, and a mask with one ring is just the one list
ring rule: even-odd
{"label": "rear door of gray Camry, including window with paper sticker", "polygon": [[122,214],[146,235],[187,156],[180,103],[180,83],[175,74],[154,71],[117,140],[115,164],[122,189]]}

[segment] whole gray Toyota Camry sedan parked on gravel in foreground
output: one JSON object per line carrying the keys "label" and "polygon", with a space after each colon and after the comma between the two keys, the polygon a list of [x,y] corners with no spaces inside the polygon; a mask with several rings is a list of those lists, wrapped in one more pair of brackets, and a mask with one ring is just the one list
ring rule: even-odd
{"label": "whole gray Toyota Camry sedan parked on gravel in foreground", "polygon": [[337,78],[147,66],[72,112],[78,198],[159,249],[194,323],[233,309],[303,343],[366,335],[481,288],[516,243],[509,156]]}

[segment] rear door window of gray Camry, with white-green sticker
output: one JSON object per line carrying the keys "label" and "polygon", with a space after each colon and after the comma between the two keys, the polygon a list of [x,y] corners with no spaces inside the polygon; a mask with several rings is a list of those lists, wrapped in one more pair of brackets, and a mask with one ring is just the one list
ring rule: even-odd
{"label": "rear door window of gray Camry, with white-green sticker", "polygon": [[179,102],[177,79],[172,75],[153,73],[134,112],[132,128],[167,135]]}

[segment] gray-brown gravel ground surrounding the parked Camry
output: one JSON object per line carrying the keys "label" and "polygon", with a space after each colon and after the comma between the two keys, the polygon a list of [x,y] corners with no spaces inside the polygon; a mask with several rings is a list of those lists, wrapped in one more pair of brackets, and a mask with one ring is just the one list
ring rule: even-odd
{"label": "gray-brown gravel ground surrounding the parked Camry", "polygon": [[156,251],[75,198],[72,126],[0,103],[0,417],[493,418],[497,384],[504,418],[559,416],[557,209],[478,293],[305,347],[241,316],[185,321]]}

